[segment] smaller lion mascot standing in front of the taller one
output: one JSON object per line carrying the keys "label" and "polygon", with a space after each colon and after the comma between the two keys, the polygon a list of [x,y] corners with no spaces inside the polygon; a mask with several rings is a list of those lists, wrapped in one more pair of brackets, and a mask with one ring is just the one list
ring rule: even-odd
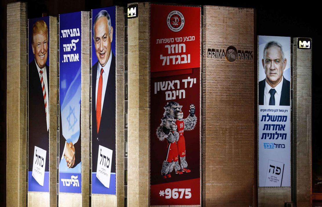
{"label": "smaller lion mascot standing in front of the taller one", "polygon": [[167,140],[167,155],[166,160],[163,161],[161,174],[164,179],[171,178],[170,173],[175,167],[175,173],[182,174],[180,171],[179,159],[178,159],[178,148],[176,142],[179,139],[179,133],[177,125],[175,124],[176,119],[173,116],[165,115],[161,119],[160,126],[156,129],[156,136],[160,141]]}

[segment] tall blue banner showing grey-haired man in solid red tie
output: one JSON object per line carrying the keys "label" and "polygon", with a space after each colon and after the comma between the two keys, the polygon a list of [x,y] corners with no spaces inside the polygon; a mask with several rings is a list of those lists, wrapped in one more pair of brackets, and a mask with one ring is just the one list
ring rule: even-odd
{"label": "tall blue banner showing grey-haired man in solid red tie", "polygon": [[92,194],[116,195],[116,7],[92,10]]}

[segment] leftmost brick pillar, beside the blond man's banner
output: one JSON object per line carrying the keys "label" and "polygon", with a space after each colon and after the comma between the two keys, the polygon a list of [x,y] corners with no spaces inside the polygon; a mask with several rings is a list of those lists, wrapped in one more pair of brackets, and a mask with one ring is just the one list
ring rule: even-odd
{"label": "leftmost brick pillar, beside the blond man's banner", "polygon": [[7,206],[26,206],[26,6],[7,5]]}

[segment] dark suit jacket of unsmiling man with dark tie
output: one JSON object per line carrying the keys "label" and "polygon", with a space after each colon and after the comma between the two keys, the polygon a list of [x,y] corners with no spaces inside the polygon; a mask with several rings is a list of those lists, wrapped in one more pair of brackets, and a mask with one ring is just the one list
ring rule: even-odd
{"label": "dark suit jacket of unsmiling man with dark tie", "polygon": [[[264,105],[264,90],[265,90],[265,81],[266,79],[260,81],[258,83],[258,104]],[[289,90],[290,90],[290,83],[283,77],[283,85],[281,91],[281,98],[279,101],[280,106],[289,106]]]}

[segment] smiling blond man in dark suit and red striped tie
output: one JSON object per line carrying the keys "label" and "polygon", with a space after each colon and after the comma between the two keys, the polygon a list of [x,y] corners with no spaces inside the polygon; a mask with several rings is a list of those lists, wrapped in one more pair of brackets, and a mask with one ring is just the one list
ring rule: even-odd
{"label": "smiling blond man in dark suit and red striped tie", "polygon": [[[31,52],[31,51],[30,51]],[[49,67],[48,27],[43,20],[38,20],[32,28],[33,61],[28,65],[29,87],[29,169],[33,169],[34,146],[46,150],[45,172],[49,171]]]}

